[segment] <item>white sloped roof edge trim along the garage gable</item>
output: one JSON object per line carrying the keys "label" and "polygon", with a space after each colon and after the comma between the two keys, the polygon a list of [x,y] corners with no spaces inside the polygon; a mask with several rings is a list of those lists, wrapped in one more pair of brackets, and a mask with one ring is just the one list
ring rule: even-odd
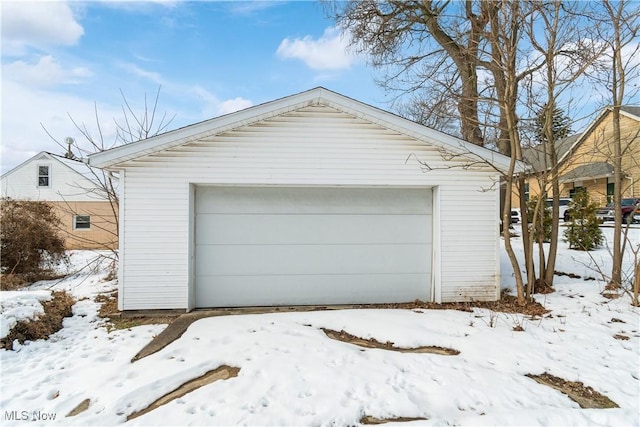
{"label": "white sloped roof edge trim along the garage gable", "polygon": [[[228,132],[302,107],[323,105],[343,113],[378,124],[417,140],[432,144],[456,154],[468,154],[506,170],[511,159],[498,152],[477,146],[443,132],[427,128],[388,111],[340,95],[323,87],[317,87],[275,101],[249,107],[235,113],[223,115],[180,129],[112,148],[89,156],[88,163],[99,168],[109,168],[141,156],[164,151],[202,138]],[[518,169],[523,165],[516,165]]]}

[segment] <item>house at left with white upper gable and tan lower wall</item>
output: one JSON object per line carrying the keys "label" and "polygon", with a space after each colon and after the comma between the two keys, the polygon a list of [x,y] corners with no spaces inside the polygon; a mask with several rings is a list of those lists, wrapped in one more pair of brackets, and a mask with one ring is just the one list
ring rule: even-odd
{"label": "house at left with white upper gable and tan lower wall", "polygon": [[43,151],[3,174],[0,186],[2,197],[53,205],[67,249],[117,248],[117,206],[85,163]]}

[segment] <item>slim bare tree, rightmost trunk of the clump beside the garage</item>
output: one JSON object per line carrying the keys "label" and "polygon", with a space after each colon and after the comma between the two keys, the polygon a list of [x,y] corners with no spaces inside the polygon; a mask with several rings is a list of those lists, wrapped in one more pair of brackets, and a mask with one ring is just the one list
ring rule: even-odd
{"label": "slim bare tree, rightmost trunk of the clump beside the garage", "polygon": [[[527,41],[538,57],[543,58],[543,67],[528,82],[527,103],[534,107],[538,122],[540,147],[542,148],[542,173],[538,176],[541,189],[540,200],[546,198],[547,191],[552,194],[551,238],[547,258],[544,249],[541,254],[539,280],[544,287],[553,286],[555,260],[559,240],[559,197],[560,197],[560,159],[557,143],[568,136],[568,117],[558,116],[563,109],[569,108],[573,100],[575,83],[583,78],[588,68],[602,55],[602,48],[595,43],[587,28],[580,25],[578,19],[583,15],[584,4],[567,4],[560,0],[533,3],[535,13],[525,26]],[[535,82],[537,78],[537,84]],[[538,108],[536,111],[535,108]],[[541,215],[539,209],[546,209],[545,203],[538,204],[535,215]]]}

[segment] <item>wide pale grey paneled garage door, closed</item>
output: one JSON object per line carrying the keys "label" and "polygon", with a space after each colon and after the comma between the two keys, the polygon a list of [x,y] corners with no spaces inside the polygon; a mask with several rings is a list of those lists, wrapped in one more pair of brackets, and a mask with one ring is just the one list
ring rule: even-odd
{"label": "wide pale grey paneled garage door, closed", "polygon": [[197,187],[197,307],[428,300],[430,189]]}

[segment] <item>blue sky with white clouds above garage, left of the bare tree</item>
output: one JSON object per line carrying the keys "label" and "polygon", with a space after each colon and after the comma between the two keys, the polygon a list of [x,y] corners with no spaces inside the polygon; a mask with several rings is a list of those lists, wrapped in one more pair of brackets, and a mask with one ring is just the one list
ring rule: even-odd
{"label": "blue sky with white clouds above garage, left of the bare tree", "polygon": [[69,115],[107,141],[120,91],[139,113],[161,86],[170,128],[324,86],[388,109],[375,72],[317,2],[3,2],[2,172],[46,135],[82,140]]}

